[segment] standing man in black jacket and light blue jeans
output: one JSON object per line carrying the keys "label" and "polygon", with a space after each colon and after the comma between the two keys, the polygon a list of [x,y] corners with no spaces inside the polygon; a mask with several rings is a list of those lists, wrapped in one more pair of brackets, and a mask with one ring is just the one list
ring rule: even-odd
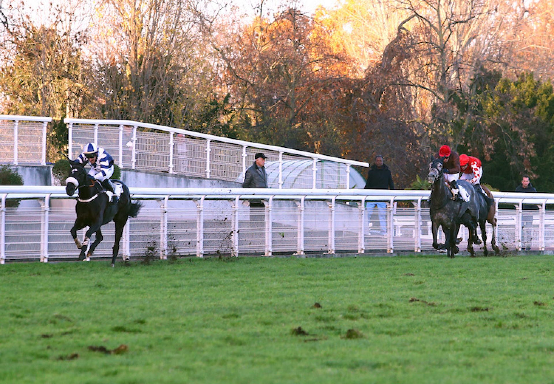
{"label": "standing man in black jacket and light blue jeans", "polygon": [[[366,190],[394,190],[394,183],[392,182],[391,170],[384,163],[383,156],[375,156],[375,163],[370,167],[367,172]],[[367,219],[371,222],[371,215],[373,214],[373,208],[377,207],[379,214],[379,231],[378,235],[387,234],[387,203],[386,202],[367,202]]]}

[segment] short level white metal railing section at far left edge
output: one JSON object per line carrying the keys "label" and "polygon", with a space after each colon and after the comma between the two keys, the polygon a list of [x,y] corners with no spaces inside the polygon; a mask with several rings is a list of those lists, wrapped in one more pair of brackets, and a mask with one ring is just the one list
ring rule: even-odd
{"label": "short level white metal railing section at far left edge", "polygon": [[46,130],[51,117],[0,115],[0,163],[46,165]]}

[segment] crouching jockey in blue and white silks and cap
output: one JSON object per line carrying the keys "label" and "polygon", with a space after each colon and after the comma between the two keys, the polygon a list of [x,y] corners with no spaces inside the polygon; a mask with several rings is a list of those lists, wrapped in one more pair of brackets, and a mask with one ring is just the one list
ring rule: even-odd
{"label": "crouching jockey in blue and white silks and cap", "polygon": [[110,154],[104,148],[89,142],[75,161],[83,165],[86,165],[87,162],[90,163],[89,175],[94,180],[98,180],[106,191],[111,192],[111,202],[117,203],[119,196],[115,193],[114,185],[110,181],[110,177],[114,174],[114,159]]}

